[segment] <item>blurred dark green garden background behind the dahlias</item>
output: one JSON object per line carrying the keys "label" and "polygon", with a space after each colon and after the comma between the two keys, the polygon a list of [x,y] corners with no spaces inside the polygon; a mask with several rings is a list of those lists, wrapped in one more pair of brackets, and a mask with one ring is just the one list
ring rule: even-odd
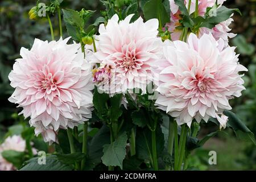
{"label": "blurred dark green garden background behind the dahlias", "polygon": [[[44,1],[42,1],[44,2]],[[9,85],[8,75],[14,60],[19,57],[21,47],[30,48],[35,38],[51,40],[47,19],[39,21],[30,20],[28,11],[35,6],[35,0],[23,1],[0,1],[0,143],[10,132],[18,132],[15,127],[17,123],[23,123],[22,116],[18,116],[20,109],[11,104],[7,98],[13,92]],[[245,87],[242,97],[232,100],[233,111],[242,119],[253,133],[256,133],[256,0],[227,0],[224,3],[229,8],[238,8],[242,16],[235,14],[234,22],[230,26],[234,34],[238,34],[230,40],[230,45],[236,46],[240,53],[240,63],[249,69],[246,73]],[[104,10],[99,0],[64,0],[63,7],[69,9],[97,10],[94,18]],[[52,18],[53,27],[58,27],[57,18]],[[56,37],[58,35],[58,28]],[[65,30],[65,29],[64,29]],[[64,34],[67,37],[67,34]],[[202,126],[201,133],[210,132],[210,124]],[[215,127],[215,126],[213,126]],[[214,130],[214,129],[212,129]],[[219,134],[210,139],[203,148],[195,151],[189,164],[201,170],[255,170],[256,169],[256,147],[252,143],[242,142],[231,131]],[[217,165],[208,164],[208,152],[217,152]]]}

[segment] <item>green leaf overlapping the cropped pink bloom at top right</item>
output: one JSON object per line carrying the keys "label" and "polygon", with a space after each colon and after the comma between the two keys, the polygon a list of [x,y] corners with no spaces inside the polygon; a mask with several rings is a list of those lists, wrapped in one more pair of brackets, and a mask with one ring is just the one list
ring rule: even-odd
{"label": "green leaf overlapping the cropped pink bloom at top right", "polygon": [[230,15],[232,15],[234,11],[238,12],[241,15],[240,10],[238,9],[228,9],[225,6],[221,6],[217,8],[216,16],[213,15],[205,18],[205,22],[201,24],[201,27],[213,28],[216,24],[229,19]]}

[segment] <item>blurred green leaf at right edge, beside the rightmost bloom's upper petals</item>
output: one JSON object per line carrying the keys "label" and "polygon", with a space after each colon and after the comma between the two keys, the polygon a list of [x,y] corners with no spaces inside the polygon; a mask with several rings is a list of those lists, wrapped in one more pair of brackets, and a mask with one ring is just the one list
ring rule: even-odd
{"label": "blurred green leaf at right edge, beside the rightmost bloom's upper petals", "polygon": [[232,39],[232,44],[237,47],[238,53],[242,55],[253,55],[255,52],[255,47],[246,41],[243,35],[237,35]]}

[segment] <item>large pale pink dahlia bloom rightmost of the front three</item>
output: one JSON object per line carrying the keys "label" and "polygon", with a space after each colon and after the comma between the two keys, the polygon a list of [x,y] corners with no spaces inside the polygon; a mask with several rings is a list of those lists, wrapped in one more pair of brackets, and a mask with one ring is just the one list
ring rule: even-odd
{"label": "large pale pink dahlia bloom rightmost of the front three", "polygon": [[[206,46],[207,45],[207,46]],[[204,34],[197,38],[190,34],[188,43],[179,40],[164,46],[166,60],[158,63],[159,97],[156,105],[176,118],[179,125],[191,125],[209,117],[217,118],[225,127],[230,110],[229,100],[240,97],[245,89],[240,71],[247,71],[238,63],[235,47],[224,48],[222,39]]]}

